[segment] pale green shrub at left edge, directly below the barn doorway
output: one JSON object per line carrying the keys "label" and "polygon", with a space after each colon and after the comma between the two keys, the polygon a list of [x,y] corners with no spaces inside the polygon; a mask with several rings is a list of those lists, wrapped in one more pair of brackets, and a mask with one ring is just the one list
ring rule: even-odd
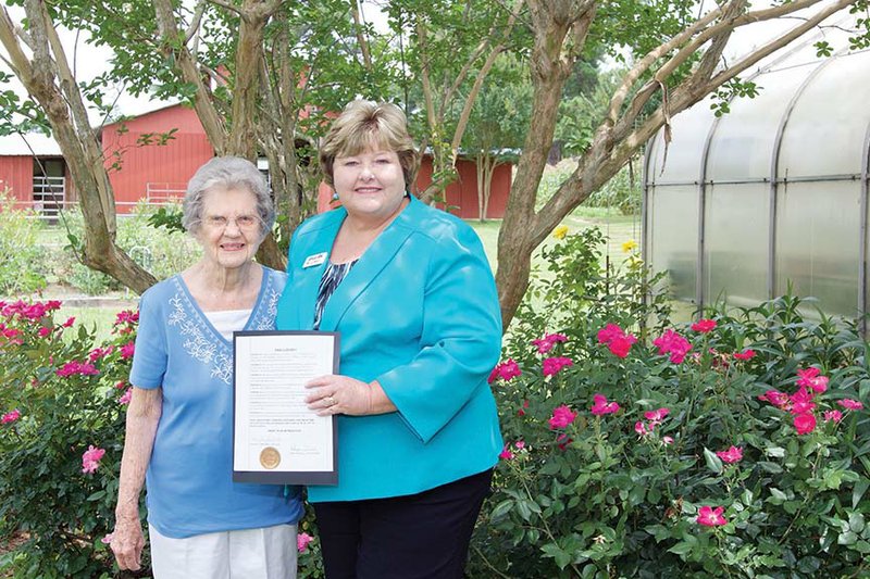
{"label": "pale green shrub at left edge, directly below the barn doorway", "polygon": [[33,211],[15,209],[0,191],[0,295],[32,293],[46,287],[45,255],[39,249],[42,222]]}

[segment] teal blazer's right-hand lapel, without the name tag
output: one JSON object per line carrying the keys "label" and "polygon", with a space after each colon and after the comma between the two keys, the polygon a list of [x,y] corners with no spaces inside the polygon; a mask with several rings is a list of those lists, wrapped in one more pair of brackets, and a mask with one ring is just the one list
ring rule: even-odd
{"label": "teal blazer's right-hand lapel, without the name tag", "polygon": [[411,203],[377,236],[362,257],[348,272],[323,309],[320,329],[335,330],[345,312],[393,260],[405,240],[414,231],[413,215],[417,213],[418,203],[420,201],[412,198]]}

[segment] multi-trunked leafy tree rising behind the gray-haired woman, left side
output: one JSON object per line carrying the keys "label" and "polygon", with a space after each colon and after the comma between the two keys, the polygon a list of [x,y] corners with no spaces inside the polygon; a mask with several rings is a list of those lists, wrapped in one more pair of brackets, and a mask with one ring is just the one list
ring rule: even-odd
{"label": "multi-trunked leafy tree rising behind the gray-haired woman, left side", "polygon": [[[190,105],[219,155],[265,155],[286,241],[314,206],[312,194],[303,192],[316,190],[309,182],[316,184],[311,144],[325,114],[360,95],[359,87],[366,87],[363,97],[383,98],[383,86],[395,75],[391,47],[370,42],[355,7],[338,0],[24,0],[20,10],[2,7],[0,58],[28,96],[2,92],[0,133],[36,127],[54,136],[85,215],[79,257],[137,292],[156,279],[115,244],[108,173],[123,166],[123,154],[102,150],[100,127],[88,118],[88,109],[116,116],[112,103],[103,102],[110,83],[134,96]],[[110,70],[79,81],[59,26],[86,30],[89,42],[113,49]],[[4,73],[0,83],[9,79]],[[172,138],[161,137],[154,140]],[[277,268],[285,264],[273,236],[258,257]]]}

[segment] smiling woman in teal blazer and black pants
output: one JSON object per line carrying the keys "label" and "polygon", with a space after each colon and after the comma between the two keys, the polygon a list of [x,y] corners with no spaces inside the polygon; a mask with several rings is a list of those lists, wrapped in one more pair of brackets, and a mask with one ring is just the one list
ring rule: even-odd
{"label": "smiling woman in teal blazer and black pants", "polygon": [[340,332],[340,375],[307,398],[338,415],[339,482],[308,489],[326,576],[462,577],[501,449],[489,264],[468,225],[407,192],[397,106],[349,104],[320,159],[341,207],[297,228],[277,326]]}

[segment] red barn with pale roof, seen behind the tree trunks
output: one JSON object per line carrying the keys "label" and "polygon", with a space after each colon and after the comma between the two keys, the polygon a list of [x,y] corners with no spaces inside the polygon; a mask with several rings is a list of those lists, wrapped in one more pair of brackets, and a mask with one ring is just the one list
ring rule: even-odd
{"label": "red barn with pale roof, seen behind the tree trunks", "polygon": [[[161,140],[162,135],[170,133],[171,138]],[[117,213],[129,213],[142,200],[162,204],[170,199],[181,199],[196,169],[214,156],[196,112],[181,104],[105,125],[100,136]],[[60,148],[41,136],[28,135],[27,142],[30,148],[20,136],[0,138],[0,191],[9,188],[18,206],[57,213],[59,207],[75,201]],[[266,169],[262,161],[260,165],[261,169]],[[493,173],[488,218],[505,214],[511,169],[512,165],[506,163]],[[459,217],[477,218],[476,165],[460,159],[457,172],[458,179],[447,187],[447,205]],[[431,182],[432,159],[426,155],[418,174],[417,190],[425,189]],[[331,196],[332,191],[321,185],[320,211],[328,207]]]}

